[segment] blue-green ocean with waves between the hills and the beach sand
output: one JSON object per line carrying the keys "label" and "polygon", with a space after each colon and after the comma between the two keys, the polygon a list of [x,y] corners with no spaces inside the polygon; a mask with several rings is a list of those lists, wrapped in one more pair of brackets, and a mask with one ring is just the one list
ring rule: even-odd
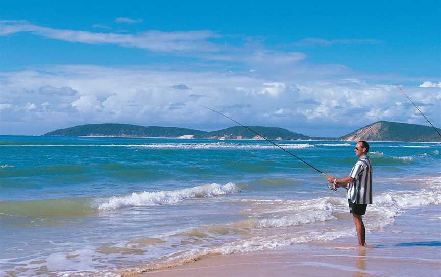
{"label": "blue-green ocean with waves between the hills and the beach sand", "polygon": [[[277,143],[337,177],[358,159],[355,142]],[[412,224],[441,203],[440,151],[371,143],[368,244],[401,215]],[[346,191],[266,141],[0,136],[0,153],[0,276],[116,276],[342,237],[356,244]]]}

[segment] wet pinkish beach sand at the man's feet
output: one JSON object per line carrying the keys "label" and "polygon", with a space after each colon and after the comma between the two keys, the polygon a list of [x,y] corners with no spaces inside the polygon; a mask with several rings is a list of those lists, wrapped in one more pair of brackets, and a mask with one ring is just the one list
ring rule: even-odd
{"label": "wet pinkish beach sand at the man's feet", "polygon": [[356,246],[356,237],[351,236],[261,252],[205,257],[185,265],[135,276],[433,277],[441,274],[440,227],[439,207],[428,205],[408,209],[396,218],[394,225],[366,234],[366,240],[371,245],[367,248]]}

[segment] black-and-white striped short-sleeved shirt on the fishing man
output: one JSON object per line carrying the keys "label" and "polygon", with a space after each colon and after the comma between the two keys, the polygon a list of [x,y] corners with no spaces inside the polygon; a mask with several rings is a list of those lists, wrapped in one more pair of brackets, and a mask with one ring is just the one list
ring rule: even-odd
{"label": "black-and-white striped short-sleeved shirt on the fishing man", "polygon": [[358,159],[349,177],[348,199],[355,204],[372,204],[372,164],[367,155]]}

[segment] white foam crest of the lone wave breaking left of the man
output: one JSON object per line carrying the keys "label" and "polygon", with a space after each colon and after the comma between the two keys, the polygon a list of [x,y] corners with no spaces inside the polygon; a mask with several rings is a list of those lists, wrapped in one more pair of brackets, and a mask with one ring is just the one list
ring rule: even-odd
{"label": "white foam crest of the lone wave breaking left of the man", "polygon": [[113,196],[108,199],[97,199],[99,210],[119,209],[131,206],[170,205],[182,202],[185,199],[196,197],[213,197],[238,192],[236,184],[227,183],[221,186],[217,183],[205,184],[182,190],[132,193],[127,196]]}

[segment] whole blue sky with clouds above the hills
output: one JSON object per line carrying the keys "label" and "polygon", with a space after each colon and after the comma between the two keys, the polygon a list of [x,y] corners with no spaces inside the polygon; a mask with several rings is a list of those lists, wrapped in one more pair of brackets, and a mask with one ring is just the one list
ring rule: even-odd
{"label": "whole blue sky with clouds above the hills", "polygon": [[9,1],[0,135],[82,124],[337,137],[441,127],[441,0]]}

